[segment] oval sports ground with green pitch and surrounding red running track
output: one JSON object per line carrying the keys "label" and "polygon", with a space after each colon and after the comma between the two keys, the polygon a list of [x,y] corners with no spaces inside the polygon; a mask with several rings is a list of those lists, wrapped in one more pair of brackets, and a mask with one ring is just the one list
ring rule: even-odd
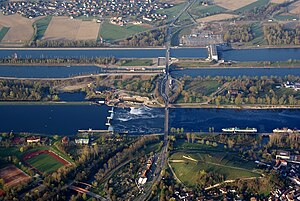
{"label": "oval sports ground with green pitch and surrounding red running track", "polygon": [[70,163],[54,152],[42,150],[31,152],[23,157],[23,160],[32,166],[34,169],[41,173],[49,174],[64,165],[69,165]]}

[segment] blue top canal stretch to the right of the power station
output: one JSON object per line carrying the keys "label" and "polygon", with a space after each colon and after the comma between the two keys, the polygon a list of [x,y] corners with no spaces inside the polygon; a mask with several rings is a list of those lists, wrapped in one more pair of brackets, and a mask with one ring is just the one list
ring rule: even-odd
{"label": "blue top canal stretch to the right of the power station", "polygon": [[287,61],[300,60],[300,48],[242,49],[223,51],[220,57],[226,61]]}

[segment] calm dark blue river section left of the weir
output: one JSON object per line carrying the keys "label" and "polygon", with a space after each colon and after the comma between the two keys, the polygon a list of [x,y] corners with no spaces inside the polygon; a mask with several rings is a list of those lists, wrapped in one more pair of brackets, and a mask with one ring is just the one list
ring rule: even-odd
{"label": "calm dark blue river section left of the weir", "polygon": [[78,129],[107,129],[109,107],[96,105],[0,105],[1,132],[73,135]]}

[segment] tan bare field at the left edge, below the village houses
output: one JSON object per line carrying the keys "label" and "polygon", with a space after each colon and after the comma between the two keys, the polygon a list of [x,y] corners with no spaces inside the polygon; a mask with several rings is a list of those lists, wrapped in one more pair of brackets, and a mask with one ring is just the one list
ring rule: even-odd
{"label": "tan bare field at the left edge, below the village houses", "polygon": [[28,19],[18,14],[9,16],[0,14],[0,26],[9,28],[1,42],[24,44],[30,41],[34,34],[32,24],[38,19],[40,18]]}

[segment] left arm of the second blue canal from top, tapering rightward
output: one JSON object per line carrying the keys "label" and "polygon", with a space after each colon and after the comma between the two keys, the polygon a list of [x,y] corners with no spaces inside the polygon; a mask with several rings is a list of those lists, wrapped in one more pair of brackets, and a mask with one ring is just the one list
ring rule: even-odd
{"label": "left arm of the second blue canal from top, tapering rightward", "polygon": [[0,77],[16,78],[66,78],[101,72],[97,66],[0,66]]}

